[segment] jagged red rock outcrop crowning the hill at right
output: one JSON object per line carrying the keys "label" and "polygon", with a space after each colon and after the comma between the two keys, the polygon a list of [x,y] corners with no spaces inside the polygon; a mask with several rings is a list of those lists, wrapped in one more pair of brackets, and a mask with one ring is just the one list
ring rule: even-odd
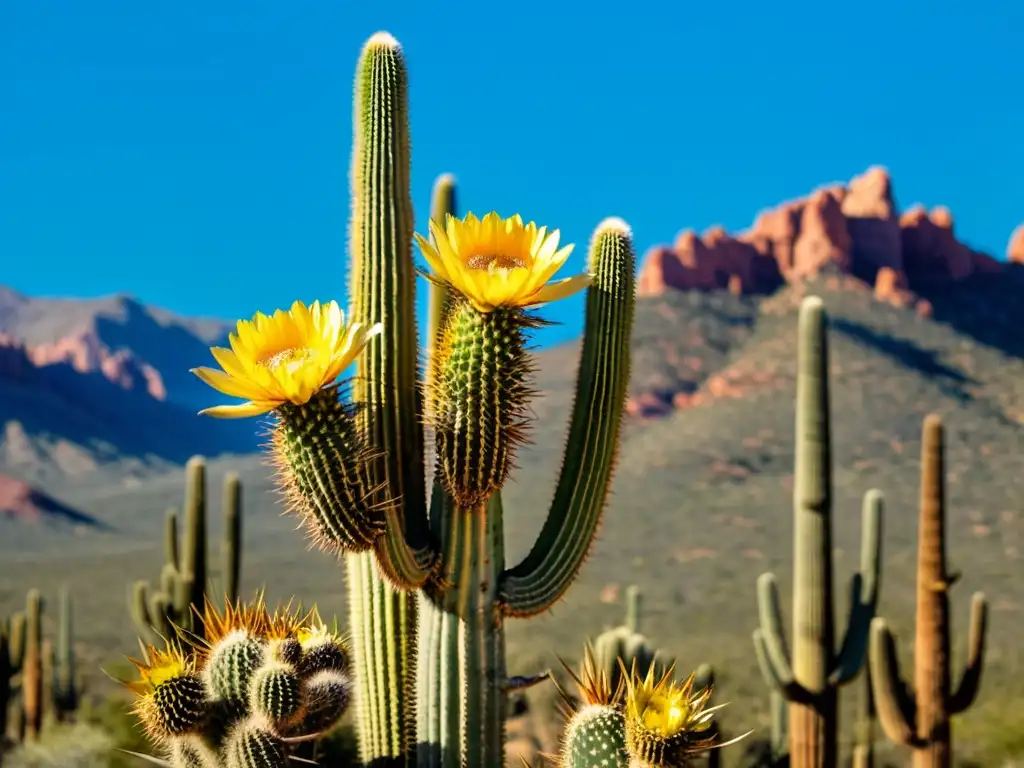
{"label": "jagged red rock outcrop crowning the hill at right", "polygon": [[[1008,258],[1024,263],[1024,226],[1014,233]],[[878,298],[907,305],[928,287],[1005,268],[956,239],[948,209],[913,206],[900,214],[892,179],[874,167],[848,184],[765,211],[745,232],[684,230],[672,246],[645,255],[638,291],[653,296],[730,286],[763,295],[786,283],[848,274],[874,285]]]}

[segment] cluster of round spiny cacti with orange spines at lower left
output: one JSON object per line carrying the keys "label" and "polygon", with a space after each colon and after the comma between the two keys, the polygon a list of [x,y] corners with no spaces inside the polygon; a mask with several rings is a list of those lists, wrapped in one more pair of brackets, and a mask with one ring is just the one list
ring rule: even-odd
{"label": "cluster of round spiny cacti with orange spines at lower left", "polygon": [[202,624],[202,637],[178,628],[163,648],[143,646],[126,683],[172,768],[285,768],[347,711],[348,647],[315,608],[208,601]]}

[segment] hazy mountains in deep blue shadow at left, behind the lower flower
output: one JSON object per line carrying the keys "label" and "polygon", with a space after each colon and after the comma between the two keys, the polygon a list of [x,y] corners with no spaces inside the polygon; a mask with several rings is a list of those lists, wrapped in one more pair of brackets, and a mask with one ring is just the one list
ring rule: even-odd
{"label": "hazy mountains in deep blue shadow at left, behind the lower flower", "polygon": [[188,369],[227,330],[125,296],[0,288],[0,470],[35,482],[125,459],[144,471],[197,452],[253,451],[251,424],[196,415],[211,395]]}

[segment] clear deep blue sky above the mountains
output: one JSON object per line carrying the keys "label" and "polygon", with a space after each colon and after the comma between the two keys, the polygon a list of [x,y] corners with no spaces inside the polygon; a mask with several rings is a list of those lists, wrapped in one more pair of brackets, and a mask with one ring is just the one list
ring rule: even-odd
{"label": "clear deep blue sky above the mountains", "polygon": [[[1002,257],[1024,220],[1010,0],[0,3],[0,284],[248,316],[344,300],[351,81],[387,30],[413,182],[640,252],[867,166]],[[442,9],[443,8],[443,9]],[[423,291],[425,293],[425,289]],[[549,307],[547,341],[582,302]]]}

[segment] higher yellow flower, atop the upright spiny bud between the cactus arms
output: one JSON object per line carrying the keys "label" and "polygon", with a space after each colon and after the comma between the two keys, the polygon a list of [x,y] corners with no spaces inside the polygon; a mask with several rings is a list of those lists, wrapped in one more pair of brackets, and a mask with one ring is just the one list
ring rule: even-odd
{"label": "higher yellow flower, atop the upright spiny bud between the cactus arms", "polygon": [[572,246],[559,250],[557,229],[549,232],[532,221],[524,225],[518,214],[509,219],[494,212],[482,219],[449,214],[443,229],[430,222],[430,233],[435,245],[416,236],[433,269],[428,279],[451,286],[479,312],[556,301],[590,284],[589,274],[549,283]]}

